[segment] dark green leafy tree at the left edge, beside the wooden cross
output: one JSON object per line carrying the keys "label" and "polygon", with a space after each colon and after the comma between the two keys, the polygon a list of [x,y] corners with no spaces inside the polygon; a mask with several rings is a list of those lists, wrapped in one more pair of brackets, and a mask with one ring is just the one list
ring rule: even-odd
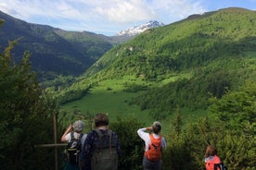
{"label": "dark green leafy tree at the left edge, beside the wooden cross", "polygon": [[12,62],[16,43],[9,42],[0,53],[1,169],[46,169],[53,163],[43,155],[51,152],[38,151],[34,145],[52,139],[50,115],[57,114],[57,109],[54,102],[46,102],[32,72],[30,55],[25,52],[20,64]]}

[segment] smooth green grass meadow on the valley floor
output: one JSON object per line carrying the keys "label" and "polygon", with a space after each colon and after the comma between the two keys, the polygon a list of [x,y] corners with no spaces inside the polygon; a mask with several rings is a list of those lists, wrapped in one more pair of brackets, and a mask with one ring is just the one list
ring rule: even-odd
{"label": "smooth green grass meadow on the valley floor", "polygon": [[[182,75],[182,77],[188,76],[189,75]],[[178,79],[177,76],[168,79],[168,81],[170,82],[174,79]],[[152,122],[156,121],[149,115],[150,111],[141,111],[138,105],[128,104],[134,96],[140,95],[145,91],[125,92],[123,91],[125,83],[136,83],[142,85],[146,84],[146,81],[132,76],[126,76],[123,79],[107,79],[100,81],[98,85],[91,89],[91,91],[89,91],[89,93],[82,99],[66,103],[61,106],[61,110],[68,112],[67,115],[62,115],[62,118],[66,119],[64,124],[72,122],[73,120],[78,119],[79,116],[85,115],[86,113],[95,115],[96,113],[103,112],[109,114],[110,123],[117,121],[117,116],[120,116],[122,118],[135,118],[143,122],[145,126],[150,126]],[[166,83],[167,79],[158,83],[147,82],[147,86],[156,87]],[[74,115],[74,110],[79,111],[81,115]],[[186,108],[183,108],[181,112],[185,125],[187,122],[195,121],[198,116],[206,115],[205,111],[191,112]],[[172,128],[172,121],[173,115],[168,116],[164,120],[160,120],[163,125],[163,133],[164,131],[170,131],[170,128]]]}

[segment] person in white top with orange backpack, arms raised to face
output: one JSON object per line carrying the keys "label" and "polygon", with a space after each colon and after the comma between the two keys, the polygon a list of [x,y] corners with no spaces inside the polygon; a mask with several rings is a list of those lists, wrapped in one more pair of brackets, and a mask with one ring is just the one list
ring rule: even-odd
{"label": "person in white top with orange backpack, arms raised to face", "polygon": [[[147,130],[152,132],[147,133]],[[160,135],[160,130],[160,122],[154,122],[151,127],[139,128],[137,130],[138,136],[145,142],[144,170],[160,170],[161,168],[161,152],[166,147],[166,141]]]}

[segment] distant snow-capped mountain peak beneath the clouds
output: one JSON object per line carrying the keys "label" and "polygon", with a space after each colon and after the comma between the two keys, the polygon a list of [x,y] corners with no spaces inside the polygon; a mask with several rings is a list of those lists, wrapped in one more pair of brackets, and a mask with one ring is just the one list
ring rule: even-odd
{"label": "distant snow-capped mountain peak beneath the clouds", "polygon": [[134,35],[140,34],[141,32],[147,29],[161,27],[161,26],[164,26],[162,22],[159,22],[156,20],[150,20],[146,24],[142,24],[140,26],[134,26],[133,28],[128,30],[122,30],[118,32],[117,36],[134,36]]}

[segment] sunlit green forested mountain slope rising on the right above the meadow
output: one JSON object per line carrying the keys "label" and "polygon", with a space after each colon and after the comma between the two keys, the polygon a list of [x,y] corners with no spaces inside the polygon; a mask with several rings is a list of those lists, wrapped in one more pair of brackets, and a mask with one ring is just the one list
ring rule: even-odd
{"label": "sunlit green forested mountain slope rising on the right above the meadow", "polygon": [[[127,76],[157,83],[134,98],[141,109],[205,109],[210,95],[220,98],[255,81],[255,25],[256,12],[242,8],[194,15],[112,48],[84,76],[97,83]],[[88,88],[81,79],[72,87]]]}

